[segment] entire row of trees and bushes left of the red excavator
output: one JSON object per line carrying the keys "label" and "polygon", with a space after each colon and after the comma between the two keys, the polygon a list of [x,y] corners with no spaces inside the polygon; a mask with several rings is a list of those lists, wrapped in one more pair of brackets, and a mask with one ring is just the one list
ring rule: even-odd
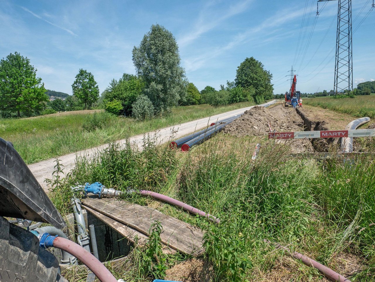
{"label": "entire row of trees and bushes left of the red excavator", "polygon": [[[207,86],[199,92],[187,81],[180,66],[174,36],[158,24],[151,26],[138,47],[134,46],[132,58],[136,75],[123,74],[120,79],[113,79],[102,93],[108,112],[144,119],[169,114],[177,105],[207,103],[216,107],[244,101],[260,104],[272,98],[272,74],[254,57],[246,58],[237,68],[236,79],[221,85],[219,91]],[[21,113],[81,110],[92,107],[99,99],[98,84],[84,69],[76,75],[72,92],[73,96],[68,96],[66,101],[49,102],[44,84],[36,77],[36,69],[27,57],[15,52],[1,60],[0,111],[3,114],[17,112],[20,117]]]}

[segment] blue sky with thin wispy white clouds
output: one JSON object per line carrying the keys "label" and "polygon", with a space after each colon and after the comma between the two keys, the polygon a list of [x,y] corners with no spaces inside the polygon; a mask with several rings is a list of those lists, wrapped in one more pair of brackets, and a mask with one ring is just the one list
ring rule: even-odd
{"label": "blue sky with thin wispy white clouds", "polygon": [[[320,3],[320,15],[308,40],[316,3],[1,0],[0,57],[20,52],[31,60],[47,89],[69,94],[79,69],[87,69],[102,92],[111,79],[124,72],[135,74],[133,46],[138,46],[151,24],[157,23],[175,36],[181,65],[199,90],[207,85],[219,89],[226,80],[234,80],[237,66],[251,56],[273,74],[274,93],[289,90],[287,75],[292,65],[298,71],[297,90],[330,90],[338,4]],[[372,0],[353,0],[353,31],[371,5]],[[375,79],[374,26],[375,9],[353,33],[355,86]],[[300,32],[302,48],[296,52]]]}

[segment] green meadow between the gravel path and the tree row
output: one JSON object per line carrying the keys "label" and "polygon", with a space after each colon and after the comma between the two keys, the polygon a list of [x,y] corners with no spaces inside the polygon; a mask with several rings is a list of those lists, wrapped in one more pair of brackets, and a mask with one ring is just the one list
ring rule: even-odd
{"label": "green meadow between the gravel path and the tree row", "polygon": [[251,105],[254,104],[243,102],[217,108],[207,104],[177,107],[169,117],[142,122],[107,113],[74,112],[34,118],[0,119],[0,138],[13,142],[21,157],[30,164]]}

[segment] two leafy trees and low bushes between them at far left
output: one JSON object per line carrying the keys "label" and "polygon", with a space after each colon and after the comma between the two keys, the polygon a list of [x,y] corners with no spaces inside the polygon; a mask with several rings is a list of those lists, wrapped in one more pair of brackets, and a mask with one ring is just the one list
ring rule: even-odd
{"label": "two leafy trees and low bushes between them at far left", "polygon": [[42,79],[36,76],[36,69],[27,57],[15,52],[0,60],[0,111],[3,117],[40,115],[47,107],[55,111],[82,110],[90,107],[99,98],[98,84],[93,75],[80,69],[72,84],[73,97],[66,101],[56,99],[49,102],[47,93],[62,96],[61,92],[46,90]]}

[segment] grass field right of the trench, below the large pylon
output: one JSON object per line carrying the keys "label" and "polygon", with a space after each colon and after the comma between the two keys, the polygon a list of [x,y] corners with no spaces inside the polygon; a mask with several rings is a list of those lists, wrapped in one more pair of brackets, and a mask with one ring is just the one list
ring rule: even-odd
{"label": "grass field right of the trench, below the large pylon", "polygon": [[333,99],[332,97],[319,97],[304,99],[304,104],[333,110],[339,113],[353,115],[354,117],[375,118],[375,96],[365,95],[355,98]]}

